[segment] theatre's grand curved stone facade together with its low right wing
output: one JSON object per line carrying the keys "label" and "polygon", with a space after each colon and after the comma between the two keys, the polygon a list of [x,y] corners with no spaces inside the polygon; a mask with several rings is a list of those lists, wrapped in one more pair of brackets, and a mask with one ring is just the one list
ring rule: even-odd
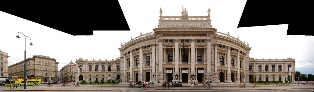
{"label": "theatre's grand curved stone facade together with its low right wing", "polygon": [[[292,66],[294,76],[295,61],[254,61],[249,53],[252,47],[239,37],[218,32],[211,25],[208,16],[160,16],[158,28],[154,32],[131,38],[118,48],[121,55],[121,75],[123,83],[129,81],[182,81],[214,83],[249,83],[250,75],[266,75],[279,80],[286,77],[283,70],[251,72],[250,64],[282,64]],[[186,55],[186,56],[185,56]],[[265,66],[265,65],[264,65]],[[264,67],[263,66],[263,67]],[[255,66],[254,66],[255,67]],[[157,75],[152,77],[152,75]],[[206,75],[206,76],[205,76]],[[174,76],[177,76],[174,77]],[[194,79],[193,79],[194,78]],[[293,79],[293,78],[292,78]],[[294,82],[294,81],[293,81]]]}

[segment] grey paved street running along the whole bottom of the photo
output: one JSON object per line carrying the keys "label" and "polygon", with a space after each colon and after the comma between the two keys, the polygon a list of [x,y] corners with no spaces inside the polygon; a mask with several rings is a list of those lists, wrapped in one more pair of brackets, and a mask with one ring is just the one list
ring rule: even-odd
{"label": "grey paved street running along the whole bottom of the photo", "polygon": [[2,92],[14,92],[14,91],[85,91],[85,92],[94,92],[94,91],[236,91],[236,90],[246,90],[246,91],[261,91],[261,90],[304,90],[303,92],[313,92],[314,86],[311,84],[291,84],[291,85],[257,85],[256,88],[253,88],[253,85],[246,85],[245,88],[240,88],[237,84],[213,84],[210,86],[210,89],[204,88],[204,86],[200,85],[191,88],[188,84],[183,84],[182,87],[172,87],[169,89],[163,89],[161,85],[151,85],[151,88],[146,88],[146,90],[141,90],[134,86],[133,88],[128,88],[127,84],[124,85],[81,85],[80,87],[75,87],[72,84],[68,84],[67,87],[61,87],[62,84],[53,84],[53,87],[47,87],[46,85],[32,85],[27,86],[24,89],[24,86],[19,87],[7,87],[0,86],[0,90]]}

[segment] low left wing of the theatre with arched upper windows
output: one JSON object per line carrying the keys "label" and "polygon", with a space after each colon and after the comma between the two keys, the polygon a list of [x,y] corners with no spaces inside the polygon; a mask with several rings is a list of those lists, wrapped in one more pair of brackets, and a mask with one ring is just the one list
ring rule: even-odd
{"label": "low left wing of the theatre with arched upper windows", "polygon": [[119,80],[120,76],[120,58],[116,60],[84,60],[79,58],[75,61],[75,72],[79,75],[75,75],[75,80]]}

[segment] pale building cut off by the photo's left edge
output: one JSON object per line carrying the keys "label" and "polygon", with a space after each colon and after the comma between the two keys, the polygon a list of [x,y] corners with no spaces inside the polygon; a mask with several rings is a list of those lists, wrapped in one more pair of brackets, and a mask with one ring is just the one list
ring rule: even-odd
{"label": "pale building cut off by the photo's left edge", "polygon": [[7,77],[8,76],[8,53],[5,53],[0,50],[0,77]]}

